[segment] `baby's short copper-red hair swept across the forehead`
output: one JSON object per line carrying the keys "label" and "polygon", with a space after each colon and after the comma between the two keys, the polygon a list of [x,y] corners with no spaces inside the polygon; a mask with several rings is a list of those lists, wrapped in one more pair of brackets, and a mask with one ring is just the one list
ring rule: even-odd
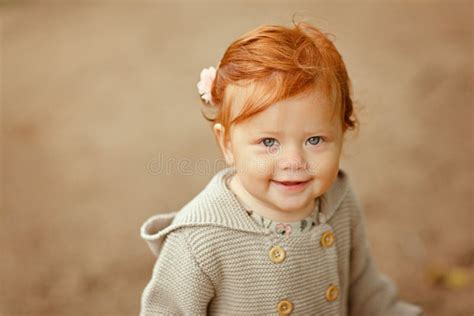
{"label": "baby's short copper-red hair swept across the forehead", "polygon": [[[300,93],[321,89],[339,113],[343,133],[358,124],[351,82],[341,55],[328,37],[306,22],[289,28],[262,25],[237,38],[224,53],[211,87],[214,115],[225,127]],[[241,108],[232,118],[233,109]]]}

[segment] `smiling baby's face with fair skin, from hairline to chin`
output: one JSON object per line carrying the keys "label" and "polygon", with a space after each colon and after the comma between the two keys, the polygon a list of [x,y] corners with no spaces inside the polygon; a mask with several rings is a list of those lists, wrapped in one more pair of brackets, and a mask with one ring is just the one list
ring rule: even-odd
{"label": "smiling baby's face with fair skin, from hairline to chin", "polygon": [[[336,179],[343,132],[339,116],[322,93],[275,103],[232,126],[221,148],[254,198],[278,211],[313,205]],[[284,181],[304,182],[299,185]]]}

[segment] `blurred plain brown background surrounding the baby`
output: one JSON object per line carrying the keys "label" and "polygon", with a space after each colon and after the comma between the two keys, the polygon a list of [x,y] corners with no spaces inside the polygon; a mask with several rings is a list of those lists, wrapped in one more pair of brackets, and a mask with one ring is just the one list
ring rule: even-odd
{"label": "blurred plain brown background surrounding the baby", "polygon": [[201,69],[294,12],[334,34],[353,81],[341,167],[379,268],[426,315],[472,315],[472,1],[72,2],[0,5],[1,316],[138,314],[140,225],[216,171],[175,162],[220,157]]}

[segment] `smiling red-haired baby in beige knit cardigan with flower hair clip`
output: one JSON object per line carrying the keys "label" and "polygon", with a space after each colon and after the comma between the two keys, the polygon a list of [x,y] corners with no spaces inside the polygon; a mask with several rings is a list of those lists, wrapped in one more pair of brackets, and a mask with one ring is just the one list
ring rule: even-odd
{"label": "smiling red-haired baby in beige knit cardigan with flower hair clip", "polygon": [[378,271],[339,167],[358,121],[328,37],[305,22],[260,26],[198,90],[227,166],[143,224],[157,260],[141,315],[421,315]]}

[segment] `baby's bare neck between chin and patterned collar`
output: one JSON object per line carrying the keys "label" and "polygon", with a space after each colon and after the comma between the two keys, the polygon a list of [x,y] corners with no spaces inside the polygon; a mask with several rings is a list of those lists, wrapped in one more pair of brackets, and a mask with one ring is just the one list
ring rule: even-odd
{"label": "baby's bare neck between chin and patterned collar", "polygon": [[237,174],[228,179],[229,188],[235,193],[245,209],[252,210],[257,214],[279,222],[296,222],[305,219],[313,212],[315,201],[298,211],[284,211],[271,207],[251,195],[242,185]]}

